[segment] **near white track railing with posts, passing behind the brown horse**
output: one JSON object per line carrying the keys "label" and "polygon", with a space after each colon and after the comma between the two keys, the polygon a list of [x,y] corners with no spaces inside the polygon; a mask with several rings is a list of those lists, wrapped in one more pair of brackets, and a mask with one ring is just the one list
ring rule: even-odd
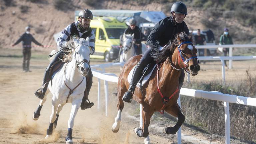
{"label": "near white track railing with posts, passing behind the brown horse", "polygon": [[[223,58],[224,59],[224,58]],[[94,77],[98,78],[98,110],[100,105],[100,80],[104,80],[104,92],[105,92],[105,114],[108,115],[108,81],[117,83],[118,77],[115,74],[104,73],[106,67],[114,67],[114,66],[123,66],[123,63],[108,63],[108,64],[100,64],[100,65],[92,65],[91,68],[101,68],[102,71],[97,71],[92,69],[92,73]],[[256,99],[249,98],[244,96],[236,96],[236,95],[228,95],[222,94],[220,92],[207,92],[202,90],[194,90],[181,88],[180,95],[191,96],[196,98],[204,98],[216,101],[224,102],[225,108],[225,136],[226,136],[226,144],[230,144],[230,117],[229,117],[229,103],[243,104],[248,106],[256,106]],[[178,99],[178,104],[180,105],[180,98]],[[142,106],[140,106],[140,114],[142,113]],[[142,127],[142,117],[140,117],[140,125]],[[177,142],[181,144],[181,128],[177,132]]]}

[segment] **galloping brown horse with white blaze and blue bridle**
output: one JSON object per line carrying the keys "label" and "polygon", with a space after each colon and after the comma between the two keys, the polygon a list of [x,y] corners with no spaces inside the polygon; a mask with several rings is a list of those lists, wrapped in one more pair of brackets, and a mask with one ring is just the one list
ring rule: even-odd
{"label": "galloping brown horse with white blaze and blue bridle", "polygon": [[[133,96],[133,98],[143,106],[143,127],[134,129],[139,137],[148,136],[150,118],[154,112],[161,110],[178,118],[178,122],[174,127],[165,127],[163,129],[164,133],[175,134],[181,127],[185,120],[185,116],[180,111],[177,99],[182,85],[179,83],[183,83],[184,79],[180,81],[179,77],[181,70],[186,70],[186,72],[190,73],[192,76],[197,75],[200,66],[198,65],[196,53],[197,49],[193,46],[191,36],[188,36],[185,33],[180,33],[176,36],[174,42],[168,45],[164,51],[153,54],[153,57],[158,63],[158,67],[153,71],[149,81],[143,85],[143,93],[141,93],[140,88],[136,87]],[[122,96],[127,91],[130,84],[127,80],[128,74],[139,62],[141,56],[142,55],[137,55],[130,58],[125,63],[118,78],[118,114],[115,118],[115,123],[112,125],[112,131],[114,133],[118,132],[120,127],[121,112],[124,108]]]}

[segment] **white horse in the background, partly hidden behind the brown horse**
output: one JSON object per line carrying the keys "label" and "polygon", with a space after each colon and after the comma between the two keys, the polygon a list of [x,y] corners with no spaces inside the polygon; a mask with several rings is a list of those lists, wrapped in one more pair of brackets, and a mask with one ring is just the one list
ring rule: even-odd
{"label": "white horse in the background, partly hidden behind the brown horse", "polygon": [[[134,45],[133,45],[134,34],[125,34],[123,36],[123,46],[120,55],[119,62],[126,62],[129,58],[136,55]],[[142,54],[147,50],[146,44],[142,43]]]}

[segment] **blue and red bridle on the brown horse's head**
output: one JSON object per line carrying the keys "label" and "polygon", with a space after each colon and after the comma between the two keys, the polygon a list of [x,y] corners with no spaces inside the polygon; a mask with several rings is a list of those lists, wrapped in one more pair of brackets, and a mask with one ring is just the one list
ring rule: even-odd
{"label": "blue and red bridle on the brown horse's head", "polygon": [[[193,57],[190,57],[189,59],[185,59],[185,58],[183,57],[183,55],[182,55],[182,54],[185,55],[185,53],[183,53],[183,52],[180,50],[180,47],[181,47],[183,44],[189,44],[189,45],[192,45],[192,46],[193,46],[193,43],[190,42],[190,41],[186,41],[186,42],[180,43],[179,46],[178,46],[178,51],[179,51],[179,53],[178,53],[178,56],[179,56],[178,61],[180,61],[180,58],[181,58],[182,61],[183,61],[183,63],[184,63],[184,65],[185,65],[185,67],[184,67],[184,68],[177,69],[177,68],[175,68],[175,67],[173,66],[172,62],[171,62],[171,66],[172,66],[175,70],[178,70],[178,71],[180,71],[180,70],[185,70],[188,74],[190,74],[190,72],[189,72],[189,70],[188,70],[188,69],[189,69],[189,68],[188,68],[189,61],[190,61],[191,59],[197,59],[197,62],[199,62],[199,60],[198,60],[197,56],[193,56]],[[178,62],[178,63],[179,63],[179,62]]]}

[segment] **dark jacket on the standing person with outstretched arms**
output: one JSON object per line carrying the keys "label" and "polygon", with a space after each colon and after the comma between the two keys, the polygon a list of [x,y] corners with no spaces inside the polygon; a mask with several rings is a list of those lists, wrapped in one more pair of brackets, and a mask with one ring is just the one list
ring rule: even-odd
{"label": "dark jacket on the standing person with outstretched arms", "polygon": [[35,40],[35,38],[31,34],[24,33],[22,36],[14,43],[14,45],[20,43],[22,41],[23,48],[31,48],[31,42],[42,46],[39,42]]}

